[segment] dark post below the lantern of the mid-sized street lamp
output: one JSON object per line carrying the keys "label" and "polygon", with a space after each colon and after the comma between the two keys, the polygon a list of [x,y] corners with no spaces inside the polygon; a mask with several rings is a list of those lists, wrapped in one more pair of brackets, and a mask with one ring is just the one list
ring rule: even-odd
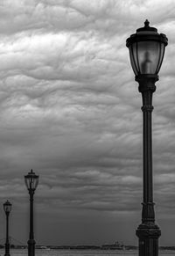
{"label": "dark post below the lantern of the mid-sized street lamp", "polygon": [[28,240],[28,256],[35,256],[35,240],[33,232],[33,194],[34,191],[29,191],[30,194],[30,234]]}

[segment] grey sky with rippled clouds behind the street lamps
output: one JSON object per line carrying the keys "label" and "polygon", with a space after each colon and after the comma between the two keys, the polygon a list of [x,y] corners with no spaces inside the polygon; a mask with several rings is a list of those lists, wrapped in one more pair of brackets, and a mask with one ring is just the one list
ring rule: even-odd
{"label": "grey sky with rippled clouds behind the street lamps", "polygon": [[[0,201],[29,233],[24,175],[39,174],[38,244],[137,245],[142,105],[125,41],[148,18],[169,39],[154,93],[154,189],[161,245],[174,245],[175,2],[0,1]],[[0,211],[4,238],[4,211]]]}

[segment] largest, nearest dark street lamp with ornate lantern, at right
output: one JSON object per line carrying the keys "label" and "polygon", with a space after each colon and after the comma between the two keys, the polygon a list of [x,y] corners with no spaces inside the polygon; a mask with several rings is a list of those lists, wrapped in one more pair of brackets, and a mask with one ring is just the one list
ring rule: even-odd
{"label": "largest, nearest dark street lamp with ornate lantern, at right", "polygon": [[139,256],[158,256],[158,238],[161,230],[155,223],[155,212],[152,187],[152,132],[151,113],[152,93],[156,91],[158,71],[163,62],[165,47],[168,39],[165,34],[158,33],[146,19],[144,27],[138,28],[137,33],[131,34],[126,40],[130,51],[130,62],[138,82],[138,91],[143,98],[143,171],[144,196],[142,223],[137,228],[139,238]]}

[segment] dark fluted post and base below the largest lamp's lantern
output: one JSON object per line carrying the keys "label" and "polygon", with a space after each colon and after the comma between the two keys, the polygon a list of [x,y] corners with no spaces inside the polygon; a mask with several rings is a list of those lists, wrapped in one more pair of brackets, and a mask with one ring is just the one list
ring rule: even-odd
{"label": "dark fluted post and base below the largest lamp's lantern", "polygon": [[156,91],[158,75],[136,77],[143,98],[143,209],[142,223],[137,228],[139,256],[158,256],[158,238],[161,231],[155,223],[152,185],[152,94]]}

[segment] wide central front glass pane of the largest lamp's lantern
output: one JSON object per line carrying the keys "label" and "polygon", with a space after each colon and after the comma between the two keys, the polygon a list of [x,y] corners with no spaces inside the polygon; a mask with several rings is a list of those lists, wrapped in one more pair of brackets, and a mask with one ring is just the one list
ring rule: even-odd
{"label": "wide central front glass pane of the largest lamp's lantern", "polygon": [[141,74],[156,74],[160,56],[158,41],[137,42],[137,56]]}

